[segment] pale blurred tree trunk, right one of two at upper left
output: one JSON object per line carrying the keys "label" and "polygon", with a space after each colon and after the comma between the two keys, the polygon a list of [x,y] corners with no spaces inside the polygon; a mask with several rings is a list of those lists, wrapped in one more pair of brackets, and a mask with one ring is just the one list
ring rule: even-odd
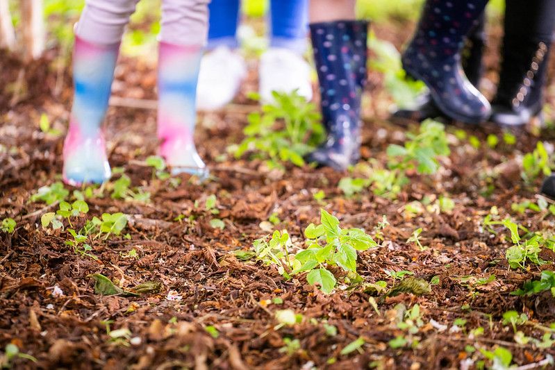
{"label": "pale blurred tree trunk, right one of two at upper left", "polygon": [[[1,0],[0,0],[1,1]],[[22,12],[24,56],[37,59],[44,51],[44,17],[42,0],[19,0]]]}

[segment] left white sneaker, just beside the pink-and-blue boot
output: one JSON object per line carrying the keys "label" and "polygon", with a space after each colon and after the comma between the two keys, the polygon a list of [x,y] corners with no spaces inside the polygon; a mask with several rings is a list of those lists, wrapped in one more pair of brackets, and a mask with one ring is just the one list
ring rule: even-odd
{"label": "left white sneaker, just beside the pink-and-blue boot", "polygon": [[197,110],[217,110],[233,100],[247,76],[245,59],[229,47],[217,47],[201,60]]}

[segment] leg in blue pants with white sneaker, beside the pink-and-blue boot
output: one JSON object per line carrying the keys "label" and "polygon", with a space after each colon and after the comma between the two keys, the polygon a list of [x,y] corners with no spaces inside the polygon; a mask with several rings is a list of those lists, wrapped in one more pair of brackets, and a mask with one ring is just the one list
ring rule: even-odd
{"label": "leg in blue pants with white sneaker, beside the pink-and-blue boot", "polygon": [[210,26],[208,53],[201,60],[197,108],[217,110],[237,94],[247,75],[245,59],[236,52],[239,0],[212,0],[208,6]]}

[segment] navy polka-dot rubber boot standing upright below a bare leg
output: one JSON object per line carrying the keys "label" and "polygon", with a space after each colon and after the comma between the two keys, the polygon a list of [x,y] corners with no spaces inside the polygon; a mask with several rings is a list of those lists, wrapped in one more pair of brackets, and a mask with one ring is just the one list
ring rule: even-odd
{"label": "navy polka-dot rubber boot standing upright below a bare leg", "polygon": [[367,21],[310,24],[320,81],[326,142],[307,155],[308,162],[344,171],[360,158],[361,95],[366,83]]}

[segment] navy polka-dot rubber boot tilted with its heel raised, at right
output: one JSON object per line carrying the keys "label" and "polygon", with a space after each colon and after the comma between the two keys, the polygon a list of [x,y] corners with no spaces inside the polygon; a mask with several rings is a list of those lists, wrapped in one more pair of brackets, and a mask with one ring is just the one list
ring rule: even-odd
{"label": "navy polka-dot rubber boot tilted with its heel raised, at right", "polygon": [[490,103],[465,76],[461,51],[488,0],[427,0],[413,40],[403,53],[409,76],[422,80],[444,115],[467,124],[490,116]]}

